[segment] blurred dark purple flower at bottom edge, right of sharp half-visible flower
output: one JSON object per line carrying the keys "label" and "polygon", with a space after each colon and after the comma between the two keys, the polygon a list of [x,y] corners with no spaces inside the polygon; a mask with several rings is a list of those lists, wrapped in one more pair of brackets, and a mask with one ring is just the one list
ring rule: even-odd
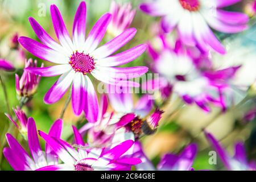
{"label": "blurred dark purple flower at bottom edge, right of sharp half-visible flower", "polygon": [[151,161],[144,154],[142,146],[139,142],[136,143],[134,148],[133,157],[142,160],[142,163],[136,165],[136,168],[139,171],[191,171],[197,154],[196,144],[190,144],[189,146],[185,147],[179,155],[164,155],[158,163],[158,166],[155,168]]}

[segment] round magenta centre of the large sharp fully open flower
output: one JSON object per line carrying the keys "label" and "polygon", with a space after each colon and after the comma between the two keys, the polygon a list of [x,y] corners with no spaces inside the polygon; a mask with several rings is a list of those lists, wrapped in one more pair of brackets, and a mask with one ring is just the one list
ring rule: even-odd
{"label": "round magenta centre of the large sharp fully open flower", "polygon": [[77,51],[71,55],[69,64],[76,72],[81,72],[84,75],[92,72],[95,68],[95,62],[92,56]]}

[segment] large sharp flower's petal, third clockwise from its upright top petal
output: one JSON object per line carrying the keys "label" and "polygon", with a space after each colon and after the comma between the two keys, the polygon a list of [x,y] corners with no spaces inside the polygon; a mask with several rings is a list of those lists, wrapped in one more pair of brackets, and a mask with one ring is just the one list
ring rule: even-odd
{"label": "large sharp flower's petal, third clockwise from its upright top petal", "polygon": [[102,67],[115,67],[118,65],[130,63],[141,56],[144,51],[146,51],[147,45],[141,44],[139,46],[128,49],[127,51],[118,53],[117,55],[109,56],[104,59],[97,61],[97,64]]}

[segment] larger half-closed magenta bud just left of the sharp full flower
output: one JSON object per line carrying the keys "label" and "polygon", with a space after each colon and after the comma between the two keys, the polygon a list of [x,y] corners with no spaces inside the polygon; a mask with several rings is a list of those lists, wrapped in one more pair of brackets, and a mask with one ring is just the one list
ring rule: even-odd
{"label": "larger half-closed magenta bud just left of the sharp full flower", "polygon": [[[25,61],[25,68],[22,77],[15,74],[16,78],[16,93],[19,97],[19,100],[22,99],[24,104],[35,94],[36,89],[38,88],[38,84],[40,82],[41,76],[36,76],[35,73],[28,72],[29,68],[37,68],[37,61],[33,61],[32,59],[28,59]],[[43,64],[41,65],[43,68]]]}

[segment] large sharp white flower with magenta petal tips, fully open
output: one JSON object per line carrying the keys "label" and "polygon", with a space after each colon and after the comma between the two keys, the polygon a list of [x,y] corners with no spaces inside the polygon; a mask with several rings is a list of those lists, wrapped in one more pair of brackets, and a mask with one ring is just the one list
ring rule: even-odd
{"label": "large sharp white flower with magenta petal tips, fully open", "polygon": [[88,75],[92,75],[97,80],[107,84],[139,86],[129,79],[146,73],[148,70],[146,67],[118,68],[115,66],[136,59],[145,51],[146,45],[141,44],[110,56],[134,37],[135,28],[129,28],[110,42],[98,47],[112,17],[109,13],[101,16],[85,40],[85,2],[81,2],[76,11],[73,23],[73,39],[69,37],[60,11],[55,5],[51,6],[51,16],[60,44],[56,43],[33,18],[29,18],[31,26],[43,44],[26,37],[20,37],[19,43],[40,59],[59,65],[47,68],[27,68],[27,71],[47,77],[61,75],[46,93],[44,97],[46,104],[53,104],[60,100],[73,82],[72,107],[74,113],[80,115],[84,110],[90,122],[96,121],[98,101]]}

